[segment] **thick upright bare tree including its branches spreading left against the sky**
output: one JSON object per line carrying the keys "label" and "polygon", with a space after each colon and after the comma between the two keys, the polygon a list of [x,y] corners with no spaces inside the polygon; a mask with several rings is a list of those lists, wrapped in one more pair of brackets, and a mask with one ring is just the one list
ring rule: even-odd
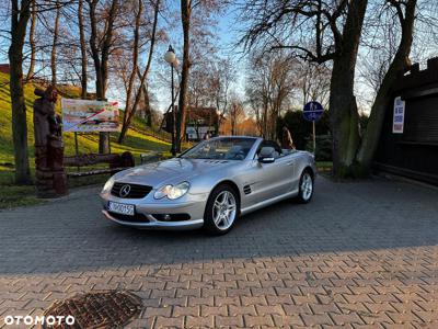
{"label": "thick upright bare tree including its branches spreading left against the sky", "polygon": [[354,80],[367,4],[368,0],[251,0],[242,14],[250,23],[241,39],[246,49],[283,48],[306,60],[332,61],[330,111],[338,177],[350,173],[359,145]]}

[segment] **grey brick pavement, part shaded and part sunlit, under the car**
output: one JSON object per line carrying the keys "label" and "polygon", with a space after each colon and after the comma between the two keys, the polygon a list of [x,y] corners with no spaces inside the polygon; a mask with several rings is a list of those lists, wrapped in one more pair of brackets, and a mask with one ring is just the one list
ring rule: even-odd
{"label": "grey brick pavement, part shaded and part sunlit, under the car", "polygon": [[118,288],[143,300],[129,328],[438,328],[436,190],[319,178],[222,237],[115,226],[96,193],[0,212],[0,327]]}

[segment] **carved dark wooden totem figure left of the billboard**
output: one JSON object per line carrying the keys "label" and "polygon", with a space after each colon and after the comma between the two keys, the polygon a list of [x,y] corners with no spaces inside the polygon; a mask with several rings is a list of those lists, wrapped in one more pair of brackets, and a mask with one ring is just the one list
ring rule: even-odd
{"label": "carved dark wooden totem figure left of the billboard", "polygon": [[61,118],[55,113],[58,93],[54,87],[35,89],[34,103],[36,193],[39,197],[65,195],[67,174],[64,169]]}

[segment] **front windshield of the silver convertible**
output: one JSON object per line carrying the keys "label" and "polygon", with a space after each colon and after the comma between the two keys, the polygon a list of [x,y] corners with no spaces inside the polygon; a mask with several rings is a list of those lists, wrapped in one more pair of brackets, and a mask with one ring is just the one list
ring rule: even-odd
{"label": "front windshield of the silver convertible", "polygon": [[223,137],[205,140],[181,156],[188,159],[244,160],[255,138]]}

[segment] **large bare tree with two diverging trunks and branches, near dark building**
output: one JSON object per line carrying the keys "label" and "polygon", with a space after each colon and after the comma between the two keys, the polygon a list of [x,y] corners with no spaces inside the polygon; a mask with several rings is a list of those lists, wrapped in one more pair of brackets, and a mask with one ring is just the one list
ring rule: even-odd
{"label": "large bare tree with two diverging trunks and branches, near dark building", "polygon": [[[244,13],[250,16],[250,29],[241,42],[247,48],[258,46],[267,52],[285,48],[291,56],[316,64],[330,63],[330,113],[336,177],[369,173],[384,110],[391,102],[391,86],[400,72],[410,68],[415,22],[418,21],[417,0],[385,0],[371,3],[374,5],[371,11],[379,15],[371,30],[376,31],[384,25],[381,13],[390,12],[390,16],[395,16],[396,21],[388,29],[400,33],[400,37],[397,46],[393,47],[393,43],[390,45],[393,48],[388,52],[388,60],[380,63],[382,65],[378,67],[379,72],[374,79],[376,98],[364,136],[359,135],[358,129],[359,115],[354,86],[368,1],[344,0],[327,3],[321,0],[252,0],[244,7]],[[433,26],[434,24],[429,24],[428,29]],[[310,45],[307,43],[309,39],[312,41]]]}

